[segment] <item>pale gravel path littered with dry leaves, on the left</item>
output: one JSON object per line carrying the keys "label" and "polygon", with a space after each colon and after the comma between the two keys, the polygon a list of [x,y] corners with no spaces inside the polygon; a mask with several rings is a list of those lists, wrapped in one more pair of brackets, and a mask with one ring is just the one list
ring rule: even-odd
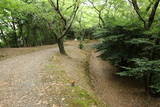
{"label": "pale gravel path littered with dry leaves, on the left", "polygon": [[41,77],[55,49],[0,61],[0,107],[47,107]]}

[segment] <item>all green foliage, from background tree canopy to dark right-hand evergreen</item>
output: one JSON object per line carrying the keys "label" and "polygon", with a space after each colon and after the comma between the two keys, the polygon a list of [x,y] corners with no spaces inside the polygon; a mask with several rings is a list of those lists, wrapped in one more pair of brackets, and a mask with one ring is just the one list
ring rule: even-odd
{"label": "all green foliage, from background tree canopy to dark right-hand evergreen", "polygon": [[[49,1],[0,0],[0,47],[51,44],[64,35],[64,39],[79,40],[94,35],[101,40],[97,45],[101,57],[120,69],[117,74],[145,79],[147,73],[148,87],[160,92],[160,8],[150,17],[155,1],[135,0],[139,15],[128,0]],[[146,29],[152,18],[152,26]]]}

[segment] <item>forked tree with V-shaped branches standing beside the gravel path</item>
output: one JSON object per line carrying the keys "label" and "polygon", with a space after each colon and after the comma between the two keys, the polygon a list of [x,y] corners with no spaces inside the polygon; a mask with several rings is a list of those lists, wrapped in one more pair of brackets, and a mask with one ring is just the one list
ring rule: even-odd
{"label": "forked tree with V-shaped branches standing beside the gravel path", "polygon": [[[73,0],[73,1],[67,1],[67,2],[60,1],[60,0],[54,0],[54,1],[48,0],[48,1],[53,7],[53,10],[57,16],[56,22],[53,22],[53,23],[55,24],[54,32],[55,32],[57,44],[59,47],[59,51],[61,54],[65,55],[66,52],[63,44],[64,37],[66,36],[66,34],[68,33],[68,31],[70,30],[73,24],[73,21],[76,17],[76,13],[80,6],[80,1],[79,0]],[[65,3],[69,5],[65,6]]]}

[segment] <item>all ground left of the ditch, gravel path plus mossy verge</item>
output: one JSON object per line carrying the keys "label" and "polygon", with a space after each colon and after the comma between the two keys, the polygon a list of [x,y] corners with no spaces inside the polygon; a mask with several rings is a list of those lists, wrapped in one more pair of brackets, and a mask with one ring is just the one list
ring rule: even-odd
{"label": "all ground left of the ditch, gravel path plus mossy verge", "polygon": [[57,47],[6,49],[17,51],[0,61],[0,107],[102,107],[85,72],[87,52],[65,44],[68,56]]}

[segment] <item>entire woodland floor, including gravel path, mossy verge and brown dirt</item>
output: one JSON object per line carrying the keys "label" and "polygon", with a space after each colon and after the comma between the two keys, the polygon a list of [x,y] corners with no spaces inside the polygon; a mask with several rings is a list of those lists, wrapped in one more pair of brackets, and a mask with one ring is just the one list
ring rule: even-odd
{"label": "entire woodland floor, including gravel path, mossy verge and brown dirt", "polygon": [[115,76],[90,49],[95,42],[86,43],[80,50],[65,42],[68,56],[57,45],[0,49],[0,107],[160,107],[141,83]]}

